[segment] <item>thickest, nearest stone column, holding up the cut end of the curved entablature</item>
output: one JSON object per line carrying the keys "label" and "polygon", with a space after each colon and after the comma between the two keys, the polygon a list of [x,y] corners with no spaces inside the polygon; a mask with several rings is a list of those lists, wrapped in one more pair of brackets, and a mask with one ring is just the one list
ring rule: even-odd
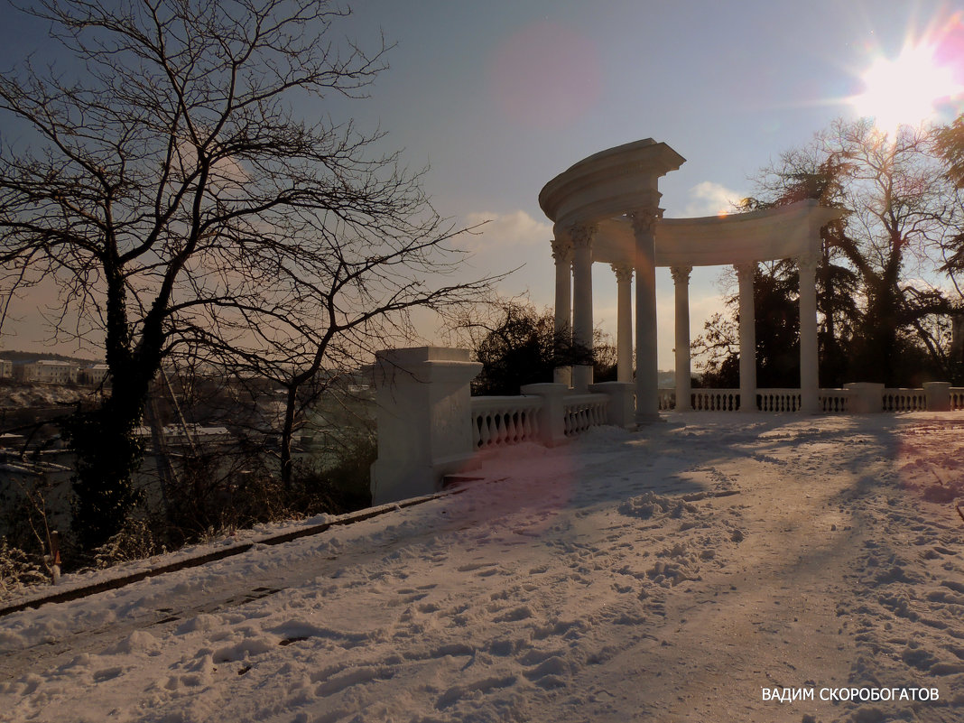
{"label": "thickest, nearest stone column, holding up the cut end of the curved entablature", "polygon": [[633,211],[636,240],[636,423],[659,418],[656,367],[656,221],[659,208]]}

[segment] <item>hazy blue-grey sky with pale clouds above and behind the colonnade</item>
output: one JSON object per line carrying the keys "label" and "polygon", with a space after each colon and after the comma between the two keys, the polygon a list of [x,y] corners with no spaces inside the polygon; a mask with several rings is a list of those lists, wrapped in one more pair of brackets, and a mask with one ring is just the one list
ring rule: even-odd
{"label": "hazy blue-grey sky with pale clouds above and behind the colonnade", "polygon": [[[428,166],[424,187],[443,216],[489,221],[459,242],[472,252],[467,278],[522,267],[499,291],[539,307],[551,306],[554,278],[539,191],[581,158],[643,138],[665,142],[686,159],[660,180],[665,215],[711,215],[749,195],[749,178],[782,151],[866,111],[847,99],[906,43],[950,28],[941,60],[964,85],[961,11],[946,2],[369,0],[353,10],[336,32],[362,47],[383,33],[394,43],[389,67],[368,98],[325,112],[387,131],[408,166]],[[14,18],[0,29],[0,67],[49,47],[42,24]],[[956,94],[935,119],[962,109]],[[722,271],[693,272],[693,335],[721,307]],[[593,287],[595,321],[613,332],[607,266],[594,268]],[[0,346],[32,348],[46,337],[35,306],[20,303],[24,323]],[[659,366],[672,368],[668,269],[657,271],[657,312]],[[422,332],[432,337],[430,327]]]}

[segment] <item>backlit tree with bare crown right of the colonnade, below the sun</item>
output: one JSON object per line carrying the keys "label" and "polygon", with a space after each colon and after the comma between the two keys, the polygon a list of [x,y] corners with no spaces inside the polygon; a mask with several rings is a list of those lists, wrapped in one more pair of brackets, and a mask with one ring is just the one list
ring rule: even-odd
{"label": "backlit tree with bare crown right of the colonnade, below the sun", "polygon": [[818,303],[822,339],[852,337],[851,374],[906,384],[900,358],[922,347],[945,365],[927,320],[953,310],[936,274],[964,217],[927,129],[905,125],[892,136],[870,120],[838,120],[764,169],[758,187],[770,205],[814,198],[849,211],[823,229]]}

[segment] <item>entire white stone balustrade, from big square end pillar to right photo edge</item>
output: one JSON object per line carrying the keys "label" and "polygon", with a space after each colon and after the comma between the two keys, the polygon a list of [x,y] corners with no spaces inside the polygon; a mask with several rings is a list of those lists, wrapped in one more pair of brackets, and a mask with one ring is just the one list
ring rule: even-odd
{"label": "entire white stone balustrade, from big square end pillar to right photo edge", "polygon": [[[472,397],[469,383],[480,369],[464,349],[415,347],[377,355],[374,504],[438,492],[446,476],[470,475],[484,449],[522,442],[553,446],[594,426],[635,424],[629,382],[590,384],[579,391],[561,383],[532,384],[522,387],[521,396]],[[964,410],[964,388],[947,382],[927,382],[920,389],[848,384],[817,392],[817,412],[824,414]],[[675,408],[678,394],[679,389],[659,389],[659,409]],[[740,394],[739,389],[699,388],[688,396],[685,411],[736,412],[745,396],[753,398],[749,411],[807,411],[800,389]]]}

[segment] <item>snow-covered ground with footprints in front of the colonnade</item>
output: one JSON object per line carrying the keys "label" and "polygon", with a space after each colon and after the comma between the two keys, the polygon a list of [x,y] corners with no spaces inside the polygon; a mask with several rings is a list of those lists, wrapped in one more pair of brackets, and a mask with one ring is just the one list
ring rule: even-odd
{"label": "snow-covered ground with footprints in front of the colonnade", "polygon": [[964,415],[667,419],[0,618],[0,718],[964,720]]}

